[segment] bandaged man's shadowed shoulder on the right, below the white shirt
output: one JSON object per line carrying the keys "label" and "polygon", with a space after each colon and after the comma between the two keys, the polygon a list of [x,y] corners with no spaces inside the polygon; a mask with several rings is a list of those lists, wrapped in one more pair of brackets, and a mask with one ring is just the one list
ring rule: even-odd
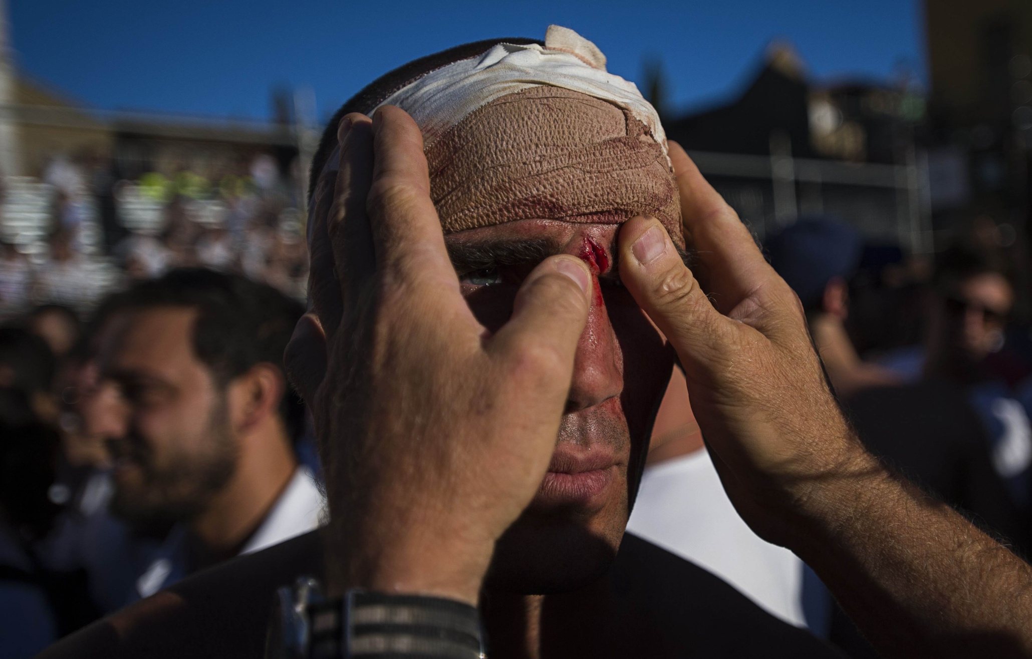
{"label": "bandaged man's shadowed shoulder on the right, below the white shirt", "polygon": [[630,533],[611,574],[624,606],[654,621],[685,657],[838,657],[805,629],[771,616],[719,578]]}

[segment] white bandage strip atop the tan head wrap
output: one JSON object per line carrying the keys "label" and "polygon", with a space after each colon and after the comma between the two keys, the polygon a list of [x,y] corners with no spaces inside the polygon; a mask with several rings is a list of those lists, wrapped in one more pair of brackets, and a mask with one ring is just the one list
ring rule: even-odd
{"label": "white bandage strip atop the tan head wrap", "polygon": [[606,57],[593,43],[556,25],[549,26],[544,47],[537,43],[499,43],[479,57],[430,71],[391,94],[381,105],[397,105],[409,112],[422,129],[428,149],[476,109],[503,96],[541,86],[579,92],[625,109],[645,125],[667,153],[659,117],[638,87],[607,73]]}

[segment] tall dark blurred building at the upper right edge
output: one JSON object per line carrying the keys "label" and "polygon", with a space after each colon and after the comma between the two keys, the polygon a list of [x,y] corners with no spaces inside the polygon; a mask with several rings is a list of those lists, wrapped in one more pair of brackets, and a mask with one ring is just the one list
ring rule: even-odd
{"label": "tall dark blurred building at the upper right edge", "polygon": [[936,225],[972,215],[1027,231],[1032,2],[925,0]]}

